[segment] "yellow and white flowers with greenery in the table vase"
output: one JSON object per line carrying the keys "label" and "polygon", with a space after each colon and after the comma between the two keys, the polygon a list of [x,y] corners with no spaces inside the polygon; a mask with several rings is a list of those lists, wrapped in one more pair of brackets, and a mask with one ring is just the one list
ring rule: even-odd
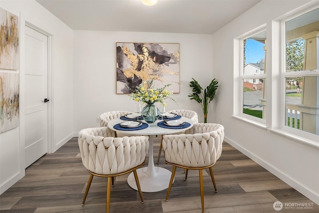
{"label": "yellow and white flowers with greenery in the table vase", "polygon": [[169,95],[173,94],[173,92],[168,92],[165,88],[170,86],[171,84],[167,84],[162,88],[155,89],[153,85],[153,80],[148,84],[147,81],[143,81],[132,93],[129,95],[130,99],[133,99],[138,102],[153,104],[155,102],[160,102],[163,105],[166,105],[165,99],[170,98],[175,101]]}

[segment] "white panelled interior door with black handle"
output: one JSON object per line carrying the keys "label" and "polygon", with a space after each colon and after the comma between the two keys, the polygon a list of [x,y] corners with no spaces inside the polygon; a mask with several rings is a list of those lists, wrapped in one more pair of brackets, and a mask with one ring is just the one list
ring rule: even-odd
{"label": "white panelled interior door with black handle", "polygon": [[25,27],[25,165],[47,153],[47,36]]}

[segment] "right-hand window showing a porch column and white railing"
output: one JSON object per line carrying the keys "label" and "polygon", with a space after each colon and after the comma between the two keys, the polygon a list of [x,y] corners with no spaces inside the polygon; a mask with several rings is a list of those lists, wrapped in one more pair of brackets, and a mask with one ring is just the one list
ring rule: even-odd
{"label": "right-hand window showing a porch column and white railing", "polygon": [[319,135],[319,8],[284,25],[284,129]]}

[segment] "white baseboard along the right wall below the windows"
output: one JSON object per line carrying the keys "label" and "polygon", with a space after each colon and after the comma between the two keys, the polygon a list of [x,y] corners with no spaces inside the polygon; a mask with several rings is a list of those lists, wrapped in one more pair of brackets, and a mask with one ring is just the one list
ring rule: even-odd
{"label": "white baseboard along the right wall below the windows", "polygon": [[275,175],[277,178],[281,179],[284,181],[286,184],[312,200],[314,203],[319,205],[319,196],[317,196],[314,192],[312,192],[310,189],[305,188],[303,185],[300,183],[296,182],[293,180],[291,177],[287,176],[286,174],[282,173],[279,171],[277,168],[271,166],[267,162],[265,162],[263,159],[259,158],[258,156],[254,155],[253,153],[248,152],[245,148],[237,144],[235,141],[227,138],[226,136],[224,137],[224,141],[226,141],[228,144],[242,152],[244,155],[255,161],[257,164],[265,168],[267,171]]}

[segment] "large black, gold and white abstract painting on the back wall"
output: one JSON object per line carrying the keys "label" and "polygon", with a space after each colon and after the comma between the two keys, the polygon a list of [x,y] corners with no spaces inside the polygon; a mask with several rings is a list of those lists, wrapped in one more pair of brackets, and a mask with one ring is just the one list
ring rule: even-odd
{"label": "large black, gold and white abstract painting on the back wall", "polygon": [[116,43],[116,93],[129,94],[142,81],[179,93],[178,43]]}

